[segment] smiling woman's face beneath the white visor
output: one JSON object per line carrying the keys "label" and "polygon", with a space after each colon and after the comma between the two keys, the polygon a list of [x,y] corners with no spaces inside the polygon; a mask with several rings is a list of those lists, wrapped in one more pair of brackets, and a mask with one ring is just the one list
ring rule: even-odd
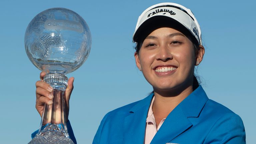
{"label": "smiling woman's face beneath the white visor", "polygon": [[135,52],[135,59],[155,91],[192,86],[196,61],[193,43],[178,30],[154,30],[142,42],[139,53]]}

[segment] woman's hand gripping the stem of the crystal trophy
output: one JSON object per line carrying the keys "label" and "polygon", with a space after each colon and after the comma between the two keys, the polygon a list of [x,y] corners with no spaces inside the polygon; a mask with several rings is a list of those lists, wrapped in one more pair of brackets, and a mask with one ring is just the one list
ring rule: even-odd
{"label": "woman's hand gripping the stem of the crystal trophy", "polygon": [[[53,88],[45,83],[43,81],[44,76],[46,75],[45,72],[40,73],[40,81],[36,82],[36,110],[42,117],[43,111],[44,111],[44,104],[52,105],[52,99],[53,99]],[[69,78],[68,80],[68,87],[65,91],[65,110],[66,110],[66,119],[68,120],[68,114],[69,114],[69,99],[70,95],[73,90],[73,82],[74,77]]]}

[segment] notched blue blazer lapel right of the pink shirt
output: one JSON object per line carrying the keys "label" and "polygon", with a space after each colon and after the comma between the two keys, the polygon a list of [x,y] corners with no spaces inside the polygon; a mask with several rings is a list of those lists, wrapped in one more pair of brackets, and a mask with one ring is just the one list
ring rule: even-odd
{"label": "notched blue blazer lapel right of the pink shirt", "polygon": [[190,117],[198,117],[208,97],[200,85],[185,98],[165,119],[150,144],[165,144],[189,129]]}

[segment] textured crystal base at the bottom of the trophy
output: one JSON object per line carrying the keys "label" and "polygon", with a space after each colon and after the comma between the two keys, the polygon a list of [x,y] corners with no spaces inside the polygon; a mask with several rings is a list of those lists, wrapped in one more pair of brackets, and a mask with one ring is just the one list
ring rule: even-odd
{"label": "textured crystal base at the bottom of the trophy", "polygon": [[28,144],[74,144],[74,142],[63,135],[44,133],[44,135],[36,135]]}

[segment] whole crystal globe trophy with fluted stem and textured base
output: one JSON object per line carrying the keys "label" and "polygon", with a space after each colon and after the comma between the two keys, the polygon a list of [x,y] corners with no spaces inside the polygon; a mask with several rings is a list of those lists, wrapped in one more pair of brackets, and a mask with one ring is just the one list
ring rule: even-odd
{"label": "whole crystal globe trophy with fluted stem and textured base", "polygon": [[51,8],[32,19],[24,42],[28,58],[46,72],[43,80],[54,88],[53,104],[44,105],[39,131],[29,144],[73,144],[66,125],[66,74],[78,69],[90,53],[89,27],[74,11]]}

